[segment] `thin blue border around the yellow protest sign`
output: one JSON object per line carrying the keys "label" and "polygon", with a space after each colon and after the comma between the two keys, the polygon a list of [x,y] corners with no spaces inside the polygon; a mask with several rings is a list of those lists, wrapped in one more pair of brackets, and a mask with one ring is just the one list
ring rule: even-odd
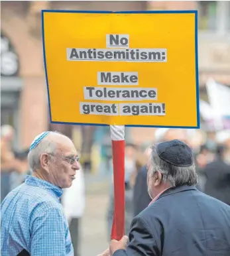
{"label": "thin blue border around the yellow protest sign", "polygon": [[42,46],[44,56],[44,70],[46,74],[46,87],[48,92],[48,105],[50,114],[50,123],[66,124],[66,125],[95,125],[95,126],[109,126],[98,123],[68,123],[52,121],[51,106],[50,106],[50,92],[48,86],[48,75],[46,67],[46,50],[44,44],[44,13],[194,13],[195,14],[195,52],[196,52],[196,109],[197,109],[197,126],[164,126],[164,125],[125,125],[125,127],[154,127],[154,128],[186,128],[186,129],[200,129],[200,104],[199,104],[199,68],[198,68],[198,11],[66,11],[66,10],[42,10]]}

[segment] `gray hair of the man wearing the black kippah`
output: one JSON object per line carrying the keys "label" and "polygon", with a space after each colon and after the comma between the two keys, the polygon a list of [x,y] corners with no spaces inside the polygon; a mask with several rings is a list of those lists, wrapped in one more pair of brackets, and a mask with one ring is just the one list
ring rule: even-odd
{"label": "gray hair of the man wearing the black kippah", "polygon": [[170,164],[158,157],[156,152],[156,144],[152,147],[150,175],[154,175],[157,171],[162,174],[162,182],[169,182],[171,186],[196,186],[198,176],[196,174],[196,166],[192,164],[188,167],[180,167]]}

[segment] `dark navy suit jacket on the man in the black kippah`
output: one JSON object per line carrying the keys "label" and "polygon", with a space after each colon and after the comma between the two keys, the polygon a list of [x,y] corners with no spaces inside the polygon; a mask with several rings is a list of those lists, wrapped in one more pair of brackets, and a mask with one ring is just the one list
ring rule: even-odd
{"label": "dark navy suit jacket on the man in the black kippah", "polygon": [[133,219],[113,256],[229,256],[230,206],[194,186],[169,188]]}

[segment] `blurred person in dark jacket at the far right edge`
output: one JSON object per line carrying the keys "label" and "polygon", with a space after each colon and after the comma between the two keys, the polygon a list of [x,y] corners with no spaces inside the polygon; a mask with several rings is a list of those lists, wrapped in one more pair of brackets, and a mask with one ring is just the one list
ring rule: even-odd
{"label": "blurred person in dark jacket at the far right edge", "polygon": [[215,160],[206,164],[203,173],[206,177],[205,194],[230,205],[230,133],[219,140]]}

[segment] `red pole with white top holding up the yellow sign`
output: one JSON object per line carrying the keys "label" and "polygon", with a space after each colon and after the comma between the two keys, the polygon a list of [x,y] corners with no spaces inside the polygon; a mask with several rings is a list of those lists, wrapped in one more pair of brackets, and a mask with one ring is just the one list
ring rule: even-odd
{"label": "red pole with white top holding up the yellow sign", "polygon": [[111,239],[125,234],[125,125],[110,125],[113,150],[114,214]]}

